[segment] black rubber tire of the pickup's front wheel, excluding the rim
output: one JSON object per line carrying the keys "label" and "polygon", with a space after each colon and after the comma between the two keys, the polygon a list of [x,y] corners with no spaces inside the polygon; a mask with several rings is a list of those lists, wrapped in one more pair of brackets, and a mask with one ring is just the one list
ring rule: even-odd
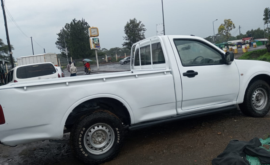
{"label": "black rubber tire of the pickup's front wheel, excluding the rim", "polygon": [[[267,103],[264,109],[257,110],[252,103],[252,96],[256,89],[262,88],[267,93]],[[254,98],[253,98],[254,99]],[[240,110],[247,116],[254,118],[264,117],[270,109],[270,86],[264,80],[254,80],[249,85],[245,92],[243,103],[239,104]]]}

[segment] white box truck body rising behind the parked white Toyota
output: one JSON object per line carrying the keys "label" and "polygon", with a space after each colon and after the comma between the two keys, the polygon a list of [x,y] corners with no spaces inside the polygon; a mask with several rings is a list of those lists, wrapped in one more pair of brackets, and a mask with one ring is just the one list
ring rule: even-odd
{"label": "white box truck body rising behind the parked white Toyota", "polygon": [[35,64],[35,63],[43,63],[43,62],[51,62],[55,66],[58,66],[57,56],[55,53],[45,53],[38,54],[33,56],[23,56],[17,58],[18,66],[27,65],[27,64]]}

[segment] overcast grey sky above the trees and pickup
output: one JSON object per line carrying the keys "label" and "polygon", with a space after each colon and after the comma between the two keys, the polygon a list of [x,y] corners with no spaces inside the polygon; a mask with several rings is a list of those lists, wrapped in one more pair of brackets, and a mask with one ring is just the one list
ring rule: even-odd
{"label": "overcast grey sky above the trees and pickup", "polygon": [[[239,34],[250,29],[264,28],[263,13],[270,7],[269,0],[245,1],[219,0],[163,0],[166,35],[196,35],[208,37],[215,33],[224,19],[231,19]],[[162,23],[161,0],[5,0],[10,14],[28,36],[33,37],[34,53],[59,53],[56,48],[56,33],[72,19],[84,18],[92,27],[98,27],[101,48],[122,47],[124,26],[129,19],[142,21],[147,31],[145,37],[156,35],[156,24]],[[7,13],[7,11],[6,11]],[[22,35],[7,15],[10,43],[14,46],[13,56],[32,55],[31,39]],[[2,10],[0,13],[0,38],[6,42]],[[242,32],[243,30],[243,32]],[[90,46],[90,44],[89,44]]]}

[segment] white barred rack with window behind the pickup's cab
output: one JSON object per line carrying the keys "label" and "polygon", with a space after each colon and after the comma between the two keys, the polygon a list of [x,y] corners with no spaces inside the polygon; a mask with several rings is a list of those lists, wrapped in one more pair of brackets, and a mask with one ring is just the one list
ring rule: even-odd
{"label": "white barred rack with window behind the pickup's cab", "polygon": [[[135,55],[133,55],[133,52]],[[139,58],[137,56],[139,56]],[[146,60],[147,58],[149,59]],[[156,60],[157,58],[161,58],[162,60]],[[142,64],[142,60],[144,60],[144,64]],[[149,60],[151,60],[151,63]],[[169,70],[168,56],[163,40],[160,36],[150,37],[134,43],[131,48],[130,61],[131,71]]]}

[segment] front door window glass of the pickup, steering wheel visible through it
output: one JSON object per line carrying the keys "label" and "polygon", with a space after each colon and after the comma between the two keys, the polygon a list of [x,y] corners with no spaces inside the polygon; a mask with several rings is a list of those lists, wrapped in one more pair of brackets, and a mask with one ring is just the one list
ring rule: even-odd
{"label": "front door window glass of the pickup, steering wheel visible through it", "polygon": [[175,39],[183,66],[224,64],[222,53],[196,40]]}

